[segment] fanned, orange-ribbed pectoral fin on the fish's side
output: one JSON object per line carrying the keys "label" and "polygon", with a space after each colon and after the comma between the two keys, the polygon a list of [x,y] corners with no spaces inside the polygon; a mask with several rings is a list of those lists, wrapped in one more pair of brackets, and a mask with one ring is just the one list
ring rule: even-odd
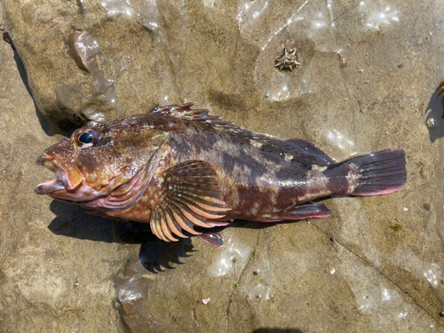
{"label": "fanned, orange-ribbed pectoral fin on the fish's side", "polygon": [[150,225],[153,234],[165,242],[177,242],[186,238],[182,230],[190,234],[194,226],[211,228],[207,219],[223,218],[226,215],[216,172],[209,163],[187,161],[163,172],[164,192],[162,199],[151,213]]}

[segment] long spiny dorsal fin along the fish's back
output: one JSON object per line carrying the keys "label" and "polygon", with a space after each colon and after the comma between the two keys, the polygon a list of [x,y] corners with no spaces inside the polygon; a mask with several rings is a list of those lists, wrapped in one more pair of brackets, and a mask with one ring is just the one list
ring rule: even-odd
{"label": "long spiny dorsal fin along the fish's back", "polygon": [[165,107],[155,107],[148,113],[155,115],[170,115],[177,118],[197,121],[210,124],[219,130],[228,131],[240,138],[250,139],[263,145],[263,150],[274,151],[279,154],[288,154],[296,159],[303,159],[310,163],[333,164],[335,163],[321,149],[304,139],[280,140],[262,134],[256,134],[252,131],[244,130],[241,127],[229,123],[217,115],[209,115],[209,110],[192,110],[194,103],[183,105],[170,105]]}

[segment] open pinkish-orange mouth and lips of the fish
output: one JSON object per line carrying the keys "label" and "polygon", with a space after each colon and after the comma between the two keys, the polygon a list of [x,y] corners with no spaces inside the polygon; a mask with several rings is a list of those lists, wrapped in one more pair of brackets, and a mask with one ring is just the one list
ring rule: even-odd
{"label": "open pinkish-orange mouth and lips of the fish", "polygon": [[57,176],[56,179],[36,186],[34,189],[36,194],[52,194],[53,192],[61,190],[74,192],[79,186],[82,185],[82,181],[76,181],[75,184],[73,184],[73,182],[67,177],[67,172],[59,166],[57,160],[51,155],[40,156],[37,158],[36,164],[41,165],[48,170],[52,170],[52,172],[54,172]]}

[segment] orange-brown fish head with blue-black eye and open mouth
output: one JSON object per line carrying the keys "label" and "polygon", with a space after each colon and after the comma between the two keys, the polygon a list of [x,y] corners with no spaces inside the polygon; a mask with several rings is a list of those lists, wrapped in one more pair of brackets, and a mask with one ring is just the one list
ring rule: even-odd
{"label": "orange-brown fish head with blue-black eye and open mouth", "polygon": [[78,204],[111,194],[144,169],[167,137],[165,131],[123,121],[78,129],[37,158],[57,178],[35,191]]}

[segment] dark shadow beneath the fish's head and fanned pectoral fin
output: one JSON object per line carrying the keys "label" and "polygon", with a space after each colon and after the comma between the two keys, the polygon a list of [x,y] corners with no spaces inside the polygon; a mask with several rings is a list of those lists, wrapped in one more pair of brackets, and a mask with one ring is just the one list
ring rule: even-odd
{"label": "dark shadow beneath the fish's head and fanned pectoral fin", "polygon": [[151,232],[147,223],[118,222],[87,214],[82,207],[51,202],[50,209],[56,215],[48,226],[53,234],[95,242],[141,244],[139,260],[152,273],[172,269],[172,264],[183,264],[180,258],[191,257],[194,252],[189,238],[178,242],[163,242]]}

